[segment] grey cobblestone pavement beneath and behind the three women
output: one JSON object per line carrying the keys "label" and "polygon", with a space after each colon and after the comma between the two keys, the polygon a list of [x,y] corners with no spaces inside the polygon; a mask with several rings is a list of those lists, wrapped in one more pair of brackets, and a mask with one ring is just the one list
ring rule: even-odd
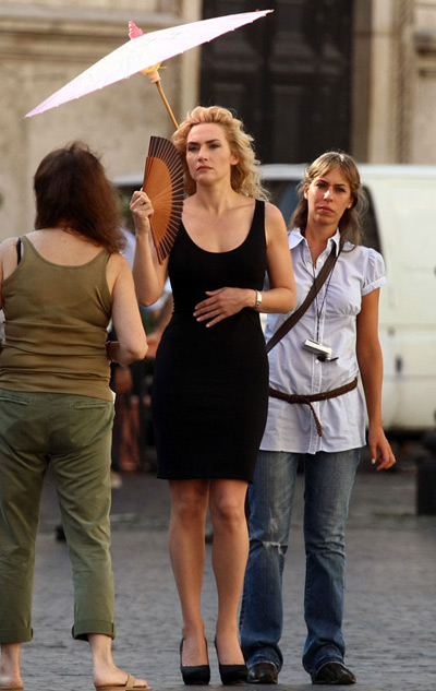
{"label": "grey cobblestone pavement beneath and behind the three women", "polygon": [[[358,474],[347,534],[347,663],[360,691],[436,689],[436,516],[417,516],[413,468]],[[312,688],[301,666],[304,553],[302,484],[292,519],[284,571],[284,666],[277,688]],[[37,544],[34,641],[23,646],[25,691],[92,691],[87,644],[72,640],[72,585],[64,544],[56,541],[55,490],[47,478]],[[149,474],[123,476],[113,491],[117,664],[158,689],[184,689],[179,672],[180,608],[167,527],[167,484]],[[216,594],[208,546],[204,618],[210,687],[220,688],[213,650]]]}

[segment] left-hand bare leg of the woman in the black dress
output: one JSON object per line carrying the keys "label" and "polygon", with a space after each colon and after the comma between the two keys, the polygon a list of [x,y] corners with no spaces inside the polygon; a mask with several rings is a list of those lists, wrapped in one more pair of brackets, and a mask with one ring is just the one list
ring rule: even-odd
{"label": "left-hand bare leg of the woman in the black dress", "polygon": [[183,665],[207,665],[201,597],[208,480],[171,480],[169,549],[183,618]]}

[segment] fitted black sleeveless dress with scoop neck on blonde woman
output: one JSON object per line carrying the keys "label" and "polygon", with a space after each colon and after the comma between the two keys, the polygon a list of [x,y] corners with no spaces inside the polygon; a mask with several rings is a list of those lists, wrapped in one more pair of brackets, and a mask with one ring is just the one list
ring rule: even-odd
{"label": "fitted black sleeveless dress with scoop neck on blonde woman", "polygon": [[244,308],[206,327],[193,317],[206,290],[261,290],[266,271],[265,204],[246,239],[208,252],[183,225],[169,259],[174,311],[153,380],[158,477],[253,480],[268,408],[268,359],[259,314]]}

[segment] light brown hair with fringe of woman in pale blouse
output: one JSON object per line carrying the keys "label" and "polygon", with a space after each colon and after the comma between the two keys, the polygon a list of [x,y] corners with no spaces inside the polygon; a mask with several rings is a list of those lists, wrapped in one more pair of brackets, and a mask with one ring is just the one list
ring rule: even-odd
{"label": "light brown hair with fringe of woman in pale blouse", "polygon": [[340,221],[339,230],[341,235],[340,243],[343,247],[346,240],[359,245],[361,241],[361,215],[366,209],[366,198],[362,191],[361,177],[354,158],[343,152],[330,151],[322,154],[314,160],[304,174],[303,180],[300,182],[298,192],[300,202],[292,214],[291,225],[300,228],[304,234],[307,225],[307,200],[304,198],[304,189],[315,180],[330,172],[334,168],[340,168],[343,177],[350,186],[353,204],[350,209],[346,209]]}

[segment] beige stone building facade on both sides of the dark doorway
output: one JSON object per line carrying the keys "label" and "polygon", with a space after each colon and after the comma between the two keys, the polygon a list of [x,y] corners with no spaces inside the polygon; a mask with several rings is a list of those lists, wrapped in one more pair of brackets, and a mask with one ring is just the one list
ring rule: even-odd
{"label": "beige stone building facade on both sides of the dark doorway", "polygon": [[[129,20],[158,31],[202,19],[206,1],[0,0],[0,239],[32,229],[32,177],[48,151],[85,140],[118,177],[143,169],[150,134],[172,132],[156,87],[141,74],[34,118],[25,114],[128,40]],[[436,0],[349,1],[351,153],[361,162],[436,164]],[[257,7],[268,3],[234,2],[229,11]],[[161,71],[177,119],[201,97],[199,52],[172,58]]]}

